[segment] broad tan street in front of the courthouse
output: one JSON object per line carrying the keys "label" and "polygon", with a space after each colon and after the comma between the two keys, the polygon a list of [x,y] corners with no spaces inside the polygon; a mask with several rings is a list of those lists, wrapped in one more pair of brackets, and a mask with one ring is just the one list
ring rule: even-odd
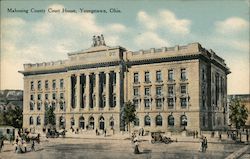
{"label": "broad tan street in front of the courthouse", "polygon": [[[13,146],[6,144],[0,153],[3,159],[128,159],[128,158],[225,158],[234,151],[244,147],[242,144],[228,144],[221,142],[208,143],[207,152],[199,152],[199,142],[173,142],[170,144],[151,144],[148,140],[139,142],[140,154],[133,153],[133,144],[129,139],[79,139],[79,138],[51,138],[36,144],[35,152],[16,154]],[[29,147],[28,147],[29,151]]]}

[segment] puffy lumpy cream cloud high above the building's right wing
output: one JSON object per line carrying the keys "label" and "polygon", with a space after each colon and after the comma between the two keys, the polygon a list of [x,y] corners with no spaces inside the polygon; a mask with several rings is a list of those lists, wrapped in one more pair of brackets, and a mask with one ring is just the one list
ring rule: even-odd
{"label": "puffy lumpy cream cloud high above the building's right wing", "polygon": [[152,16],[145,11],[137,14],[137,20],[148,30],[168,29],[169,32],[180,35],[190,33],[191,21],[188,19],[178,19],[169,10],[161,10],[157,15]]}

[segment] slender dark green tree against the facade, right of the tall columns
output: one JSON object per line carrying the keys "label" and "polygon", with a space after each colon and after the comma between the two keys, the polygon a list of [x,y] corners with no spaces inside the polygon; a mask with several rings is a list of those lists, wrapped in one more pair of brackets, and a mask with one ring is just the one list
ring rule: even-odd
{"label": "slender dark green tree against the facade, right of the tall columns", "polygon": [[135,105],[131,103],[130,101],[128,101],[124,107],[123,117],[124,117],[125,124],[128,126],[129,134],[130,134],[130,123],[134,122],[136,119],[135,111],[136,111]]}

